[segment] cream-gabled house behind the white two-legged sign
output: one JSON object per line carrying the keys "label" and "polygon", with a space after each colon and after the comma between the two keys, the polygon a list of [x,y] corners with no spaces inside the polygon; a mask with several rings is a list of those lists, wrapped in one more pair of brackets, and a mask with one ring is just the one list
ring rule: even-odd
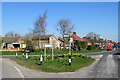
{"label": "cream-gabled house behind the white two-legged sign", "polygon": [[39,47],[44,48],[44,44],[53,44],[54,48],[60,48],[60,41],[54,35],[33,36],[32,43],[34,44],[36,49],[38,49]]}

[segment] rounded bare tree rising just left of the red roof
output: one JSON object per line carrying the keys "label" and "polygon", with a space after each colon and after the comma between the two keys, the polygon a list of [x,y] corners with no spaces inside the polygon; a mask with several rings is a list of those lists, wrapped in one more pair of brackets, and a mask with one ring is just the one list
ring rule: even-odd
{"label": "rounded bare tree rising just left of the red roof", "polygon": [[69,19],[60,19],[57,23],[57,31],[62,35],[63,37],[63,47],[65,48],[65,34],[71,34],[73,31],[74,25],[71,23]]}

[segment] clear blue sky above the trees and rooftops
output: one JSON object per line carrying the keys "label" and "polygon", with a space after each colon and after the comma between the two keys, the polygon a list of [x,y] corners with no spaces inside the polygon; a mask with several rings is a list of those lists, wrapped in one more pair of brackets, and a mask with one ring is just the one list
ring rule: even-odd
{"label": "clear blue sky above the trees and rooftops", "polygon": [[2,36],[9,31],[25,35],[46,9],[46,34],[61,36],[56,25],[64,18],[71,20],[73,31],[81,38],[94,32],[103,39],[118,41],[117,2],[3,2]]}

